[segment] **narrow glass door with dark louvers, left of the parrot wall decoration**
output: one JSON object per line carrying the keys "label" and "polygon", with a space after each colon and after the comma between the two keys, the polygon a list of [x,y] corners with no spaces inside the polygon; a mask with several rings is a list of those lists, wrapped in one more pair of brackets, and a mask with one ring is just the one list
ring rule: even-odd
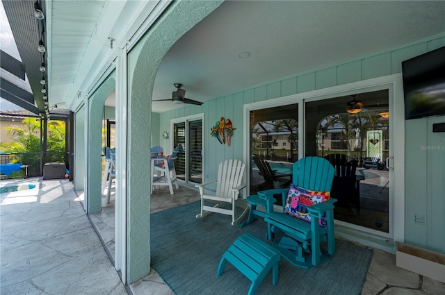
{"label": "narrow glass door with dark louvers, left of the parrot wall decoration", "polygon": [[172,121],[173,148],[184,150],[175,160],[176,174],[186,183],[202,183],[202,121],[201,115]]}

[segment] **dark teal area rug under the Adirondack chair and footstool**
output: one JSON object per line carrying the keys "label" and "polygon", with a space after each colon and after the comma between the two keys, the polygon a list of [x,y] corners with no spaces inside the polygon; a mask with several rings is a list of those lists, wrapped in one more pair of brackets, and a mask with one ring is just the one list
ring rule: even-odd
{"label": "dark teal area rug under the Adirondack chair and footstool", "polygon": [[[222,276],[216,271],[223,253],[243,233],[266,241],[266,224],[258,219],[239,228],[230,225],[228,215],[216,213],[196,219],[199,210],[194,202],[152,214],[152,267],[178,295],[248,294],[250,280],[232,264]],[[339,239],[336,247],[330,261],[312,269],[282,258],[278,284],[272,285],[270,271],[257,294],[360,294],[372,251]]]}

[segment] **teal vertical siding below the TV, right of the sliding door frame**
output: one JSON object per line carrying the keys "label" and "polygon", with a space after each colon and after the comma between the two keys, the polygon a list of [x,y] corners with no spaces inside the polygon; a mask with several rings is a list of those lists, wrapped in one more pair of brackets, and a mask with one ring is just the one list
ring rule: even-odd
{"label": "teal vertical siding below the TV, right of the sliding door frame", "polygon": [[445,137],[433,133],[432,124],[444,121],[445,116],[405,121],[405,242],[441,253],[445,253]]}

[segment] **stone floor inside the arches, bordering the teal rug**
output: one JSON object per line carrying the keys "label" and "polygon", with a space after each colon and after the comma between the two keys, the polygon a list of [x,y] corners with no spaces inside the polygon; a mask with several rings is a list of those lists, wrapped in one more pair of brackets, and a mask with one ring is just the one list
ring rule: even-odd
{"label": "stone floor inside the arches, bordering the teal rug", "polygon": [[[102,198],[102,212],[97,212],[90,214],[90,221],[92,226],[95,227],[99,237],[102,239],[102,244],[104,248],[113,261],[114,258],[114,210],[115,210],[115,194],[114,189],[111,189],[111,202],[106,203],[106,198]],[[168,187],[161,187],[159,189],[154,189],[153,194],[150,196],[151,201],[151,214],[156,212],[161,212],[163,210],[168,210],[181,205],[190,204],[200,200],[199,192],[190,185],[184,185],[180,183],[179,189],[175,189],[175,194],[170,195]],[[196,205],[197,209],[199,204]],[[192,214],[192,213],[191,213]],[[229,217],[224,217],[219,215],[223,219],[227,219],[229,224]],[[152,225],[156,226],[156,224]],[[266,230],[266,228],[265,228]],[[337,237],[338,238],[338,237]],[[341,238],[339,238],[341,239]],[[362,246],[362,245],[360,245]],[[418,289],[423,292],[431,294],[442,294],[445,284],[432,280],[427,277],[419,276],[411,271],[406,271],[396,267],[396,256],[394,253],[389,253],[387,251],[382,251],[378,248],[372,248],[373,258],[371,264],[369,264],[368,273],[366,276],[366,281],[362,287],[362,292],[360,294],[366,295],[377,295],[382,294],[387,289],[397,289],[396,292],[409,292],[408,289]],[[220,257],[215,257],[215,260],[219,260]],[[329,262],[326,262],[329,263]],[[212,275],[216,276],[215,273]],[[239,273],[239,276],[242,276]],[[263,284],[270,284],[271,281],[264,280]],[[163,285],[163,287],[161,287]],[[159,294],[168,295],[176,294],[170,287],[163,281],[161,276],[156,272],[156,269],[152,269],[149,276],[143,278],[136,283],[130,285],[133,294]],[[165,289],[164,289],[165,287]],[[159,288],[159,289],[158,289]],[[152,293],[153,290],[156,293]],[[287,286],[275,285],[277,294],[288,294],[289,290]],[[159,293],[158,293],[159,292]],[[391,292],[391,291],[387,291]],[[442,293],[441,293],[442,292]]]}

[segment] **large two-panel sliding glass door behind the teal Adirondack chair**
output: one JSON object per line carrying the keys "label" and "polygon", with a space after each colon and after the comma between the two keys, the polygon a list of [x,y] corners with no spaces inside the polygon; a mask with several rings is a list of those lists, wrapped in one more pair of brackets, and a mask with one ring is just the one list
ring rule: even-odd
{"label": "large two-panel sliding glass door behind the teal Adirondack chair", "polygon": [[[353,166],[346,178],[346,170],[336,170],[331,196],[338,200],[337,223],[375,235],[394,235],[394,134],[389,117],[394,92],[369,89],[310,99],[296,94],[282,98],[281,104],[277,99],[246,106],[250,194],[288,186],[287,175],[298,158],[323,157],[333,165]],[[348,112],[354,100],[358,108]],[[266,173],[265,165],[272,174]]]}

